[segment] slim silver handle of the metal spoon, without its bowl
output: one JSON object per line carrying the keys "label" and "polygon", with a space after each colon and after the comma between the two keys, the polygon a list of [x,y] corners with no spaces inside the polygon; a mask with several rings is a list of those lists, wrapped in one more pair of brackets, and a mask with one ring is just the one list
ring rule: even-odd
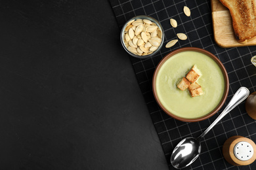
{"label": "slim silver handle of the metal spoon, without its bowl", "polygon": [[245,87],[241,87],[238,89],[238,91],[234,94],[232,99],[229,101],[228,105],[226,105],[226,108],[223,110],[223,112],[219,115],[219,117],[200,135],[197,139],[200,141],[210,130],[217,124],[228,112],[230,112],[234,107],[239,105],[242,101],[244,101],[249,95],[249,90]]}

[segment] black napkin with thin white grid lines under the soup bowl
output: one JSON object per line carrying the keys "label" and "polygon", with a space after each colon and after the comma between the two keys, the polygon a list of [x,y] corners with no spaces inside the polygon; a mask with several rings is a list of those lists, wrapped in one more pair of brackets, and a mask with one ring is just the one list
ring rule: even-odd
{"label": "black napkin with thin white grid lines under the soup bowl", "polygon": [[[239,48],[221,48],[217,46],[213,38],[211,1],[110,0],[110,4],[116,15],[120,30],[127,20],[138,15],[156,18],[163,26],[165,42],[160,52],[149,59],[131,57],[131,63],[160,138],[169,169],[174,169],[170,163],[171,152],[181,139],[190,136],[198,137],[219,116],[232,95],[241,86],[247,87],[251,93],[255,92],[256,67],[251,64],[250,59],[256,55],[256,46]],[[190,17],[184,14],[184,6],[191,10]],[[177,20],[178,27],[171,27],[170,18]],[[177,42],[171,48],[165,48],[167,42],[177,39],[177,33],[186,33],[188,39]],[[217,56],[226,68],[230,80],[230,91],[223,108],[215,116],[202,122],[186,123],[171,118],[158,107],[152,92],[152,76],[159,61],[169,52],[186,46],[203,48]],[[129,57],[129,54],[127,54],[127,57]],[[223,143],[228,137],[234,135],[248,137],[256,142],[255,120],[247,115],[244,102],[227,114],[205,136],[205,139],[201,142],[202,154],[198,160],[185,169],[256,169],[256,161],[251,165],[235,167],[224,160],[222,154]]]}

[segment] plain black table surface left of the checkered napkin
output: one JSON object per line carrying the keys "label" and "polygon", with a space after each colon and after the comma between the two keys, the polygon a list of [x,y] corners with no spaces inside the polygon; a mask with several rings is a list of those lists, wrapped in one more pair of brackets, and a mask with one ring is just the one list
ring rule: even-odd
{"label": "plain black table surface left of the checkered napkin", "polygon": [[168,169],[109,1],[0,1],[0,169]]}

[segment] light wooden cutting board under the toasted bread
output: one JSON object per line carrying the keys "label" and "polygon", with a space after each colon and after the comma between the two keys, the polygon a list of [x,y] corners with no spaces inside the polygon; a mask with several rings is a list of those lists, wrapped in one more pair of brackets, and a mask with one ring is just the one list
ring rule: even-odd
{"label": "light wooden cutting board under the toasted bread", "polygon": [[213,18],[214,39],[219,46],[230,48],[256,45],[256,37],[249,39],[247,42],[236,41],[230,12],[219,0],[211,0],[211,14]]}

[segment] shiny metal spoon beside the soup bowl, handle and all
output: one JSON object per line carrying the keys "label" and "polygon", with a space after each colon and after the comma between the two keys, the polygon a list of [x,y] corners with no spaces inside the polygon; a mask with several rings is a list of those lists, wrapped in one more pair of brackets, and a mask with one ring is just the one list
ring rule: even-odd
{"label": "shiny metal spoon beside the soup bowl, handle and all", "polygon": [[226,108],[219,115],[219,117],[200,135],[198,138],[187,137],[183,139],[177,146],[174,148],[173,153],[171,154],[171,164],[173,167],[180,169],[187,167],[193,163],[196,158],[200,155],[201,144],[200,140],[221,120],[230,110],[234,109],[238,104],[244,101],[249,95],[249,90],[245,87],[241,87],[234,94],[232,99],[229,101]]}

